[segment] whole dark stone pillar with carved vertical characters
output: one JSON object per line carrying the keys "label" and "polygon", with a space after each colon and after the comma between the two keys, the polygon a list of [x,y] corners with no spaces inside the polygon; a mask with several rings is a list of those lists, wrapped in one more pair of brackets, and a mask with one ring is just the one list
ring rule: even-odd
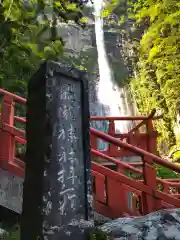
{"label": "whole dark stone pillar with carved vertical characters", "polygon": [[85,73],[44,63],[28,93],[21,239],[87,239],[93,221]]}

